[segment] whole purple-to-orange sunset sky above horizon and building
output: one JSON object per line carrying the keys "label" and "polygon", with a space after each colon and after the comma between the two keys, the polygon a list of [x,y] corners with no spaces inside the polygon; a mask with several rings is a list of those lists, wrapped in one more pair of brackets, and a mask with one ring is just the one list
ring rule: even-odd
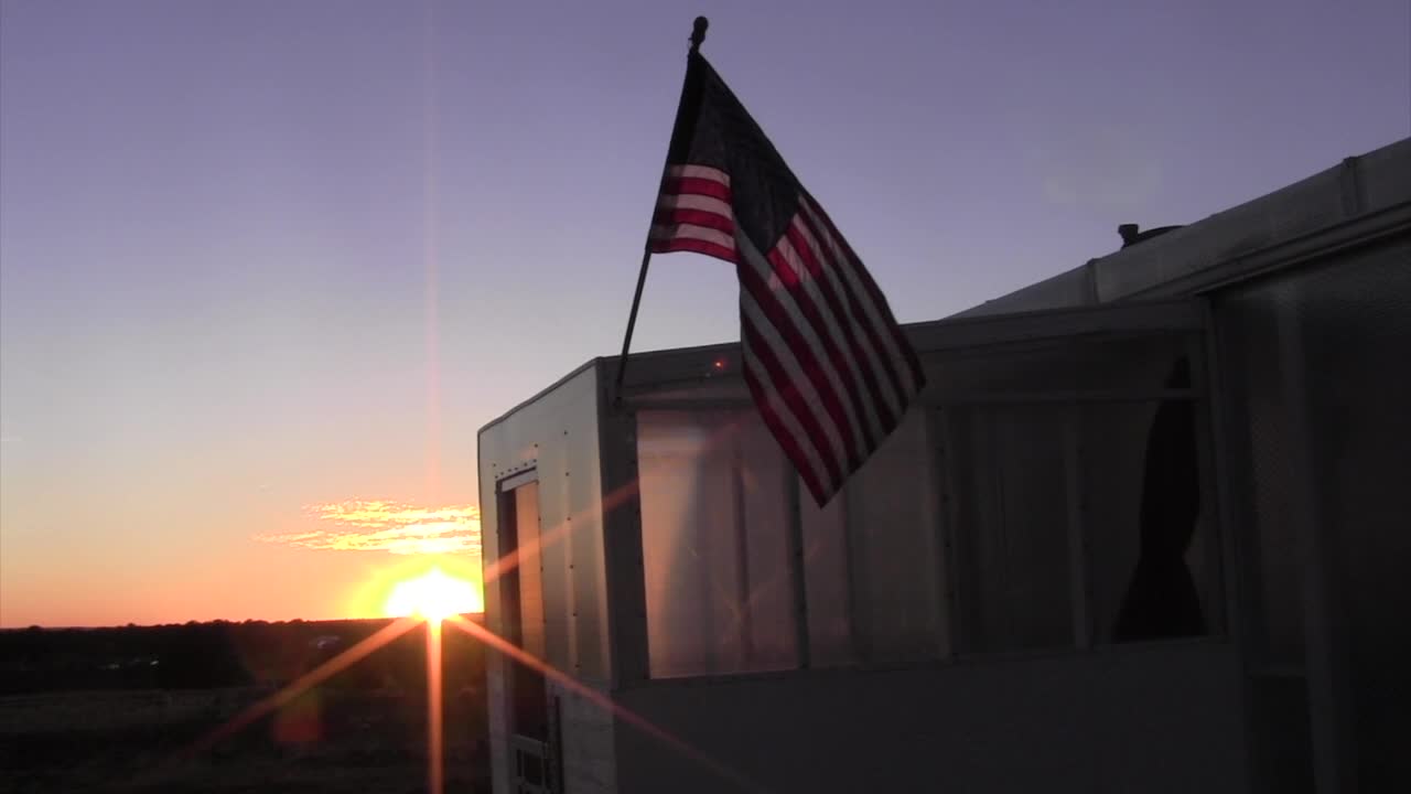
{"label": "whole purple-to-orange sunset sky above horizon and building", "polygon": [[[0,624],[474,569],[476,429],[621,343],[698,13],[902,321],[1411,134],[1405,0],[0,0]],[[634,349],[735,297],[658,257]]]}

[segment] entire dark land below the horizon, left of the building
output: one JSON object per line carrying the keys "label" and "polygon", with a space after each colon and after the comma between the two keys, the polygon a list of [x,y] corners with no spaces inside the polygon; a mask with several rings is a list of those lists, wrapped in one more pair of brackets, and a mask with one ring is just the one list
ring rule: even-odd
{"label": "entire dark land below the horizon, left of the building", "polygon": [[[426,791],[425,624],[231,730],[388,624],[0,630],[0,791]],[[488,791],[483,650],[442,660],[446,790]]]}

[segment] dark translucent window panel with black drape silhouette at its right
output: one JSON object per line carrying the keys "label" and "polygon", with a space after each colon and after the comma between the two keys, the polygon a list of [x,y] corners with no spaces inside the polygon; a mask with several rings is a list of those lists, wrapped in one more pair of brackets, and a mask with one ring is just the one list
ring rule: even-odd
{"label": "dark translucent window panel with black drape silhouette at its right", "polygon": [[[969,653],[1209,633],[1223,615],[1188,335],[937,362],[943,487]],[[1192,374],[1194,366],[1201,367]],[[1194,397],[1194,400],[1192,400]]]}

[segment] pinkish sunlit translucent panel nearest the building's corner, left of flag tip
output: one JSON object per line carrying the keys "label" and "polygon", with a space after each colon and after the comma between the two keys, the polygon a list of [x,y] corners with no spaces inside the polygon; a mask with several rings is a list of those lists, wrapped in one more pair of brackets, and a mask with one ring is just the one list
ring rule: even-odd
{"label": "pinkish sunlit translucent panel nearest the building's corner, left of flag tip", "polygon": [[797,664],[790,469],[751,413],[638,414],[653,677]]}

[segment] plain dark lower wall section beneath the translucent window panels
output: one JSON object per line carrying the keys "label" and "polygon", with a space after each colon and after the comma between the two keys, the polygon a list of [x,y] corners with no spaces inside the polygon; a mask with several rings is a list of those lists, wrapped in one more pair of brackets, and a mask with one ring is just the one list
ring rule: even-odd
{"label": "plain dark lower wall section beneath the translucent window panels", "polygon": [[619,701],[706,762],[621,728],[618,791],[1245,793],[1239,674],[1197,643],[653,682]]}

